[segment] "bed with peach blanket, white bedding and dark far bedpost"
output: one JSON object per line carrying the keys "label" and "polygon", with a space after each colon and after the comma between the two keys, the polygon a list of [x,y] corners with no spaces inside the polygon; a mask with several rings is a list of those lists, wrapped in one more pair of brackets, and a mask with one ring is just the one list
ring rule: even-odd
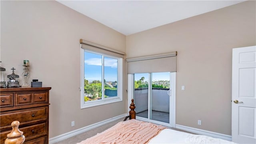
{"label": "bed with peach blanket, white bedding and dark far bedpost", "polygon": [[130,104],[128,121],[87,138],[77,144],[234,144],[220,138],[189,134],[172,130],[161,125],[136,120],[134,100]]}

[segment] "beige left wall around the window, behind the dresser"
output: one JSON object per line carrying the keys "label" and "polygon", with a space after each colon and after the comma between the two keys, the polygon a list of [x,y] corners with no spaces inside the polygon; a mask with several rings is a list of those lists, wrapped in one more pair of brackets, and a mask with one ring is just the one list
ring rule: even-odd
{"label": "beige left wall around the window, behind the dresser", "polygon": [[50,138],[126,113],[125,91],[123,102],[80,109],[80,38],[125,52],[123,34],[56,1],[1,0],[2,66],[21,76],[29,60],[30,80],[52,87]]}

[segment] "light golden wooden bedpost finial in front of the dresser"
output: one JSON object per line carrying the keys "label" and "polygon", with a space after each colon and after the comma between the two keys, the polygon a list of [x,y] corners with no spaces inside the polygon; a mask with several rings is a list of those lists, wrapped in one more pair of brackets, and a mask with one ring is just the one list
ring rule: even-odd
{"label": "light golden wooden bedpost finial in front of the dresser", "polygon": [[7,138],[4,144],[22,144],[25,141],[25,136],[22,135],[23,132],[19,130],[19,121],[12,122],[12,132],[7,134]]}

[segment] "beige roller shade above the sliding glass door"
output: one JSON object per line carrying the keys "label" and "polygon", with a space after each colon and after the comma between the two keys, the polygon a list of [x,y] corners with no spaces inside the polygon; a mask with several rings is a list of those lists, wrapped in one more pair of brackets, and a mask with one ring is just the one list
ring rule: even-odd
{"label": "beige roller shade above the sliding glass door", "polygon": [[177,52],[127,58],[128,74],[149,72],[176,72]]}

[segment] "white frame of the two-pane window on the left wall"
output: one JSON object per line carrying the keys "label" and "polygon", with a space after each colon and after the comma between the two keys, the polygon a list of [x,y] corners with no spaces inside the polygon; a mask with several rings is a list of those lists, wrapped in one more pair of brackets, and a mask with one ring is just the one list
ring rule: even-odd
{"label": "white frame of the two-pane window on the left wall", "polygon": [[[114,97],[110,97],[110,98],[104,98],[104,95],[102,96],[101,100],[93,100],[93,101],[87,101],[84,102],[84,52],[91,52],[94,54],[100,54],[109,58],[115,58],[118,60],[117,62],[117,96]],[[93,107],[93,106],[100,106],[103,104],[110,104],[113,102],[120,102],[122,101],[122,79],[123,79],[123,72],[122,72],[122,68],[123,68],[123,58],[118,58],[116,56],[110,56],[107,54],[102,54],[100,52],[94,52],[92,50],[86,50],[84,48],[81,48],[81,52],[80,52],[80,58],[81,58],[81,64],[80,64],[80,75],[81,75],[81,79],[80,79],[80,97],[81,97],[81,109],[82,108],[89,108],[89,107]],[[104,64],[102,64],[102,82],[104,83]],[[104,89],[104,84],[102,85],[102,91]]]}

